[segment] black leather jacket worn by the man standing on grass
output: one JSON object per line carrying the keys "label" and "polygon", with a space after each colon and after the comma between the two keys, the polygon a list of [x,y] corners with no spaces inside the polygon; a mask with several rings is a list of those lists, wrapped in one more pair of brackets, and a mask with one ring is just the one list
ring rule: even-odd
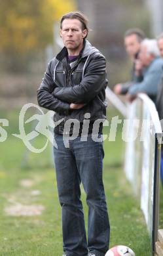
{"label": "black leather jacket worn by the man standing on grass", "polygon": [[[90,122],[105,119],[105,87],[107,86],[105,57],[84,40],[84,47],[77,64],[67,68],[67,49],[53,58],[46,69],[43,81],[37,90],[39,106],[54,110],[54,121],[64,118],[64,121],[54,129],[63,133],[67,119],[84,120],[84,114],[90,113]],[[69,109],[71,103],[85,103],[79,110]]]}

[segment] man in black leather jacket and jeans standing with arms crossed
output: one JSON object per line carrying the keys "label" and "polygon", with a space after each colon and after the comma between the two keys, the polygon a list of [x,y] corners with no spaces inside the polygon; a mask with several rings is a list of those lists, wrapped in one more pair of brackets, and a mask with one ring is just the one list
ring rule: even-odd
{"label": "man in black leather jacket and jeans standing with arms crossed", "polygon": [[[55,122],[62,119],[54,128],[58,146],[54,147],[54,162],[62,206],[63,251],[67,256],[104,256],[109,246],[109,217],[102,178],[103,123],[98,132],[94,129],[94,124],[105,119],[106,114],[106,62],[100,51],[86,40],[87,35],[88,22],[81,12],[62,17],[60,36],[64,47],[48,64],[37,90],[39,106],[54,110]],[[72,120],[74,125],[67,132],[66,124]],[[68,147],[65,139],[69,140]],[[88,205],[88,242],[81,182]]]}

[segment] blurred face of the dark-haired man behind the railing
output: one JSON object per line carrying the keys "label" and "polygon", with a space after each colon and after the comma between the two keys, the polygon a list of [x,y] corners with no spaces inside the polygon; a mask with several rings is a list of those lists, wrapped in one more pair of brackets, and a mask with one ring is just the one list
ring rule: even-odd
{"label": "blurred face of the dark-haired man behind the railing", "polygon": [[130,58],[135,58],[135,55],[139,52],[140,49],[140,43],[137,39],[137,35],[133,34],[126,36],[124,38],[124,45]]}

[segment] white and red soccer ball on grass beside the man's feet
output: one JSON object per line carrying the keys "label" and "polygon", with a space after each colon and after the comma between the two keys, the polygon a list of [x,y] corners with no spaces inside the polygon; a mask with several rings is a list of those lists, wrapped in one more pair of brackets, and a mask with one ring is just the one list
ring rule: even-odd
{"label": "white and red soccer ball on grass beside the man's feet", "polygon": [[136,256],[136,254],[129,247],[118,245],[109,249],[105,256]]}

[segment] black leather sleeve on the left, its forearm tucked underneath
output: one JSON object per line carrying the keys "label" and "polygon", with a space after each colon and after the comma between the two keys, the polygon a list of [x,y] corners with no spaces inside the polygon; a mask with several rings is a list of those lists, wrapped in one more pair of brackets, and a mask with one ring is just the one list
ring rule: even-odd
{"label": "black leather sleeve on the left, its forearm tucked underneath", "polygon": [[54,90],[54,81],[52,79],[52,74],[50,72],[50,65],[51,62],[48,64],[48,67],[46,68],[46,72],[39,89],[37,89],[38,104],[39,106],[46,108],[48,110],[54,110],[59,114],[68,115],[69,104],[67,102],[63,102],[62,100],[52,95],[52,91]]}

